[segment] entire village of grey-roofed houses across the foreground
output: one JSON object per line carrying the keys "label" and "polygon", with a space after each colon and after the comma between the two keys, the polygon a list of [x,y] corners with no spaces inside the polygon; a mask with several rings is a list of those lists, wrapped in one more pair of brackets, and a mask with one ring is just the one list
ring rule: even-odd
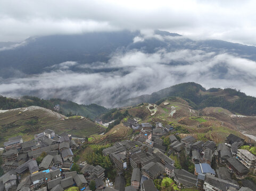
{"label": "entire village of grey-roofed houses across the foreground", "polygon": [[[97,123],[101,120],[97,119]],[[57,135],[45,129],[32,141],[23,142],[21,136],[16,136],[4,143],[0,190],[63,191],[76,186],[81,191],[156,191],[158,181],[167,180],[170,183],[167,190],[256,190],[252,189],[253,185],[249,186],[250,181],[248,187],[241,185],[240,180],[256,169],[255,155],[240,149],[247,145],[243,138],[230,134],[225,143],[217,145],[189,135],[180,138],[174,127],[159,122],[153,128],[150,123],[129,118],[123,125],[133,129],[133,138],[112,143],[102,150],[117,169],[115,179],[109,180],[99,165],[74,162],[73,151],[85,144],[85,138],[65,133]],[[183,154],[193,169],[177,165]],[[75,165],[76,170],[72,168]],[[126,186],[123,173],[128,169],[131,178]]]}

